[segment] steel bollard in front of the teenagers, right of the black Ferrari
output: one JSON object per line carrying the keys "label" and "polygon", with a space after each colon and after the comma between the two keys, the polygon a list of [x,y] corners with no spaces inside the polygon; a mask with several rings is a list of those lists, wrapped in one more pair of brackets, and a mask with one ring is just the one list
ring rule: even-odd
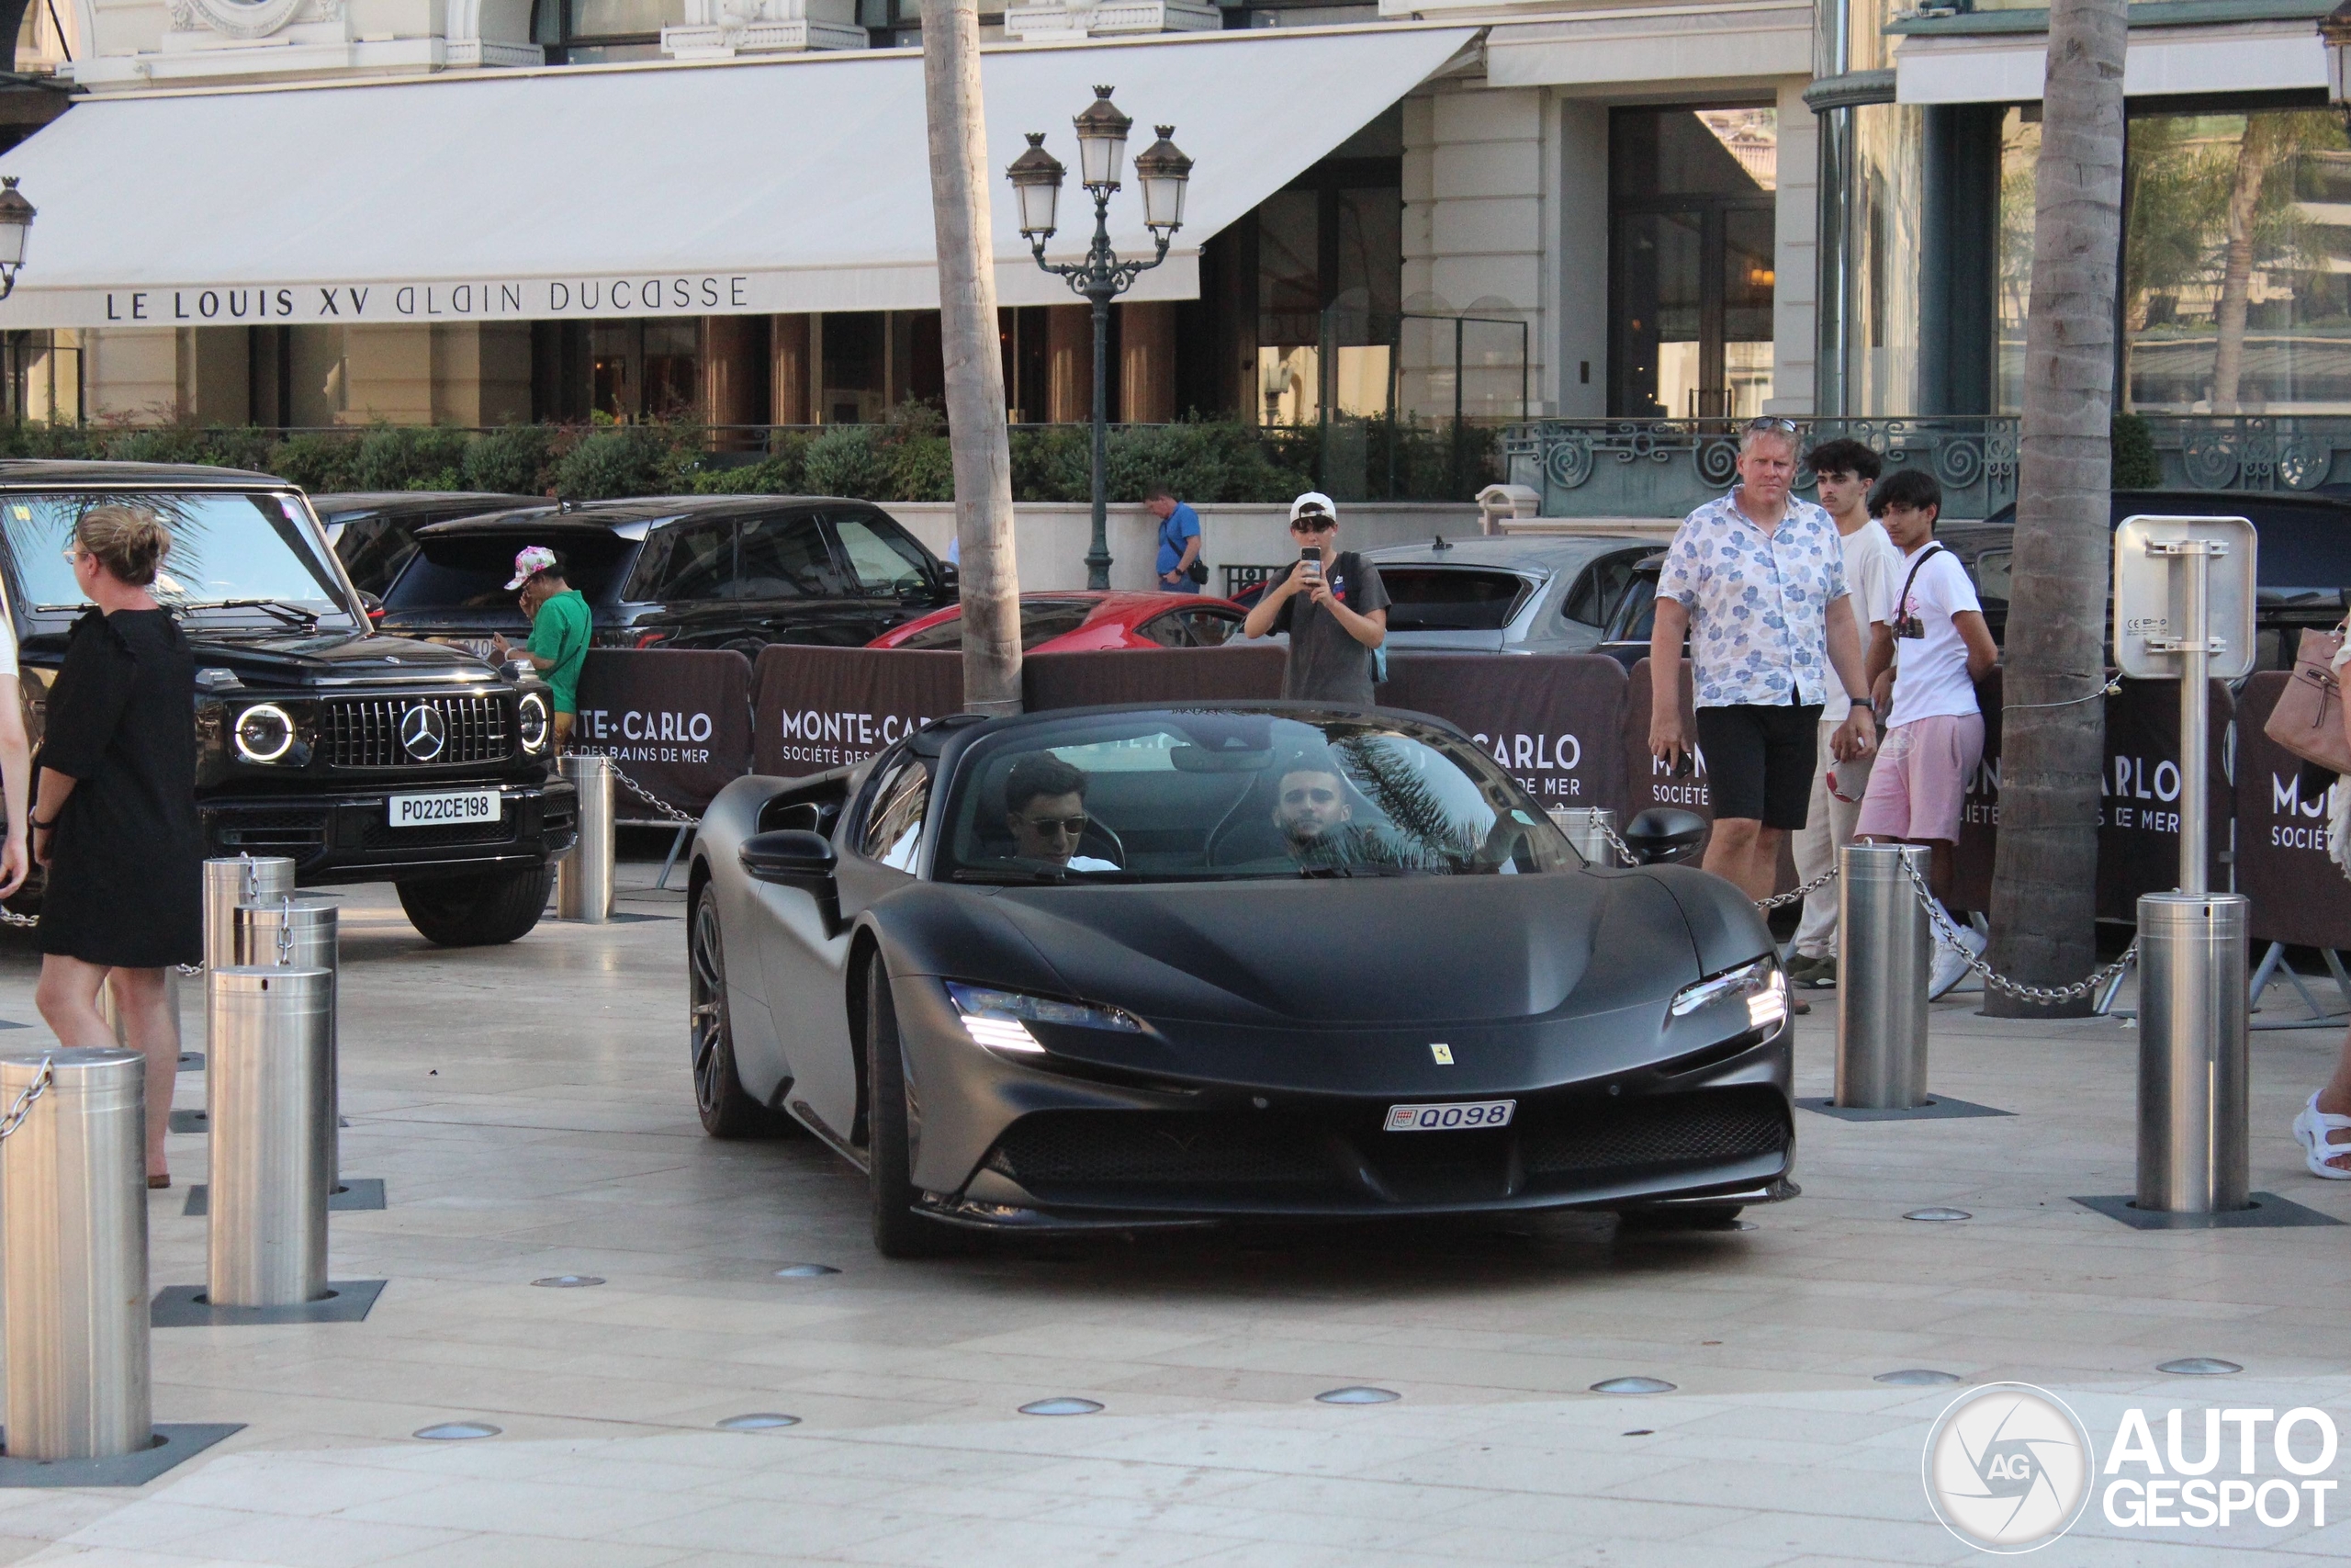
{"label": "steel bollard in front of the teenagers, right of the black Ferrari", "polygon": [[1935,938],[1918,891],[1923,844],[1848,844],[1836,877],[1836,1103],[1855,1110],[1925,1105],[1925,990]]}

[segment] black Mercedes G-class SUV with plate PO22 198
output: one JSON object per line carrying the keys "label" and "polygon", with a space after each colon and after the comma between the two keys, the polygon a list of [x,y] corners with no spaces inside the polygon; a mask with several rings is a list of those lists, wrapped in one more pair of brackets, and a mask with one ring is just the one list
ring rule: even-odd
{"label": "black Mercedes G-class SUV with plate PO22 198", "polygon": [[209,856],[393,882],[451,947],[538,924],[578,799],[550,778],[548,689],[456,649],[376,635],[303,494],[233,468],[0,461],[0,576],[40,736],[66,632],[89,609],[63,550],[82,512],[172,529],[155,597],[195,654],[195,790]]}

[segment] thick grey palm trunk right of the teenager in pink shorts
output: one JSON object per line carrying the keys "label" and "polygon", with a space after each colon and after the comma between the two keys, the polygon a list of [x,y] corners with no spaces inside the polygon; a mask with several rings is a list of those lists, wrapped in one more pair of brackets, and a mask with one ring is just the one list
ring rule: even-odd
{"label": "thick grey palm trunk right of the teenager in pink shorts", "polygon": [[[2106,508],[2123,38],[2123,0],[2050,5],[2003,677],[2001,849],[1991,875],[1991,964],[2029,985],[2078,980],[2097,957],[2106,715],[2092,693],[2106,679],[2114,550]],[[1984,1011],[2081,1016],[2090,1001],[2036,1009],[1994,992]]]}

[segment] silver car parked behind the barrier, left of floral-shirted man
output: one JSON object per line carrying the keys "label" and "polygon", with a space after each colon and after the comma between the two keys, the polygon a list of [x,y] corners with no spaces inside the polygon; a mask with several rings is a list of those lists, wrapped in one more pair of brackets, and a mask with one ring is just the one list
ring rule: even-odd
{"label": "silver car parked behind the barrier, left of floral-shirted man", "polygon": [[1594,654],[1655,541],[1472,536],[1366,550],[1387,588],[1387,646]]}

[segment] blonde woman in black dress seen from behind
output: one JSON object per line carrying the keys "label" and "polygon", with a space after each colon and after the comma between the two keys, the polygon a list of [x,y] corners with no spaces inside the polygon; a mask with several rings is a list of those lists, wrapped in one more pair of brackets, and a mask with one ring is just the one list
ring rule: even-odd
{"label": "blonde woman in black dress seen from behind", "polygon": [[125,1039],[146,1051],[148,1187],[169,1187],[165,1131],[179,1074],[167,964],[195,964],[202,830],[195,816],[195,663],[148,585],[172,548],[153,512],[101,505],[73,529],[73,581],[96,604],[73,623],[49,691],[33,790],[40,1016],[66,1046],[110,1046],[99,987],[113,980]]}

